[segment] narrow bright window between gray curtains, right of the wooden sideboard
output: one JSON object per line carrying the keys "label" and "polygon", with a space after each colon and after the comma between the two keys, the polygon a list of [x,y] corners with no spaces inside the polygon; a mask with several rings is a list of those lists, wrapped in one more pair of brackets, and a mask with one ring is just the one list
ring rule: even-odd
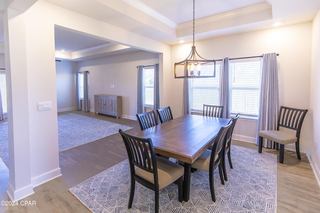
{"label": "narrow bright window between gray curtains, right of the wooden sideboard", "polygon": [[152,107],[154,103],[154,66],[143,67],[144,107]]}

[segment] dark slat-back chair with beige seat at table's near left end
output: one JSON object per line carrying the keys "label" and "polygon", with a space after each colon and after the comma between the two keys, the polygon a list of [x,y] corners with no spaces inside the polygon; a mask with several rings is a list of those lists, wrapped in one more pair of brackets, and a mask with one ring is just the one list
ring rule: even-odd
{"label": "dark slat-back chair with beige seat at table's near left end", "polygon": [[130,167],[131,186],[128,209],[132,206],[135,182],[154,191],[155,213],[159,211],[159,191],[172,183],[177,184],[178,200],[182,202],[184,168],[156,156],[150,138],[135,137],[123,132],[121,129],[119,129],[119,133],[126,148]]}

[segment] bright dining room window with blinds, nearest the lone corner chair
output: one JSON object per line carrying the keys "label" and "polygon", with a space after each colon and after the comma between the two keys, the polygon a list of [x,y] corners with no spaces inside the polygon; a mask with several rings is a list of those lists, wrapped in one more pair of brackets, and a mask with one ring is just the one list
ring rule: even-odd
{"label": "bright dining room window with blinds, nearest the lone corner chair", "polygon": [[258,116],[261,58],[229,61],[230,113]]}

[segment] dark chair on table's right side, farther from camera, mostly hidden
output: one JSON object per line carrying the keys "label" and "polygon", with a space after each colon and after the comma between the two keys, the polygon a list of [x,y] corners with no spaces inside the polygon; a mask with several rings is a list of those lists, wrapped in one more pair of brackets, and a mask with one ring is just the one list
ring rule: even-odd
{"label": "dark chair on table's right side, farther from camera, mostly hidden", "polygon": [[222,152],[223,152],[222,156],[224,156],[222,158],[222,171],[223,171],[223,177],[224,177],[225,181],[228,180],[227,177],[226,177],[226,169],[225,169],[225,155],[228,156],[230,169],[233,169],[232,162],[231,162],[231,153],[230,153],[230,150],[231,150],[231,137],[232,137],[232,132],[233,132],[235,123],[236,123],[236,121],[238,120],[239,117],[240,117],[240,114],[238,113],[238,114],[235,115],[234,118],[231,119],[233,122],[232,122],[232,125],[230,126],[230,128],[229,128],[229,130],[227,132],[227,136],[226,136],[226,140],[225,140],[225,146],[224,146],[224,149],[222,150]]}

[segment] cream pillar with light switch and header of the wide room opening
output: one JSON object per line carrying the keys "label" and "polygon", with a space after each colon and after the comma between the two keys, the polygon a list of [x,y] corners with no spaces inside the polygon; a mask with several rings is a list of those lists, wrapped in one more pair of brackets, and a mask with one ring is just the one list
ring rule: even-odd
{"label": "cream pillar with light switch and header of the wide room opening", "polygon": [[[4,20],[10,157],[7,194],[15,201],[60,175],[54,26],[164,53],[162,68],[170,62],[170,46],[42,0],[24,13],[7,8]],[[38,111],[40,101],[51,101],[52,109]]]}

